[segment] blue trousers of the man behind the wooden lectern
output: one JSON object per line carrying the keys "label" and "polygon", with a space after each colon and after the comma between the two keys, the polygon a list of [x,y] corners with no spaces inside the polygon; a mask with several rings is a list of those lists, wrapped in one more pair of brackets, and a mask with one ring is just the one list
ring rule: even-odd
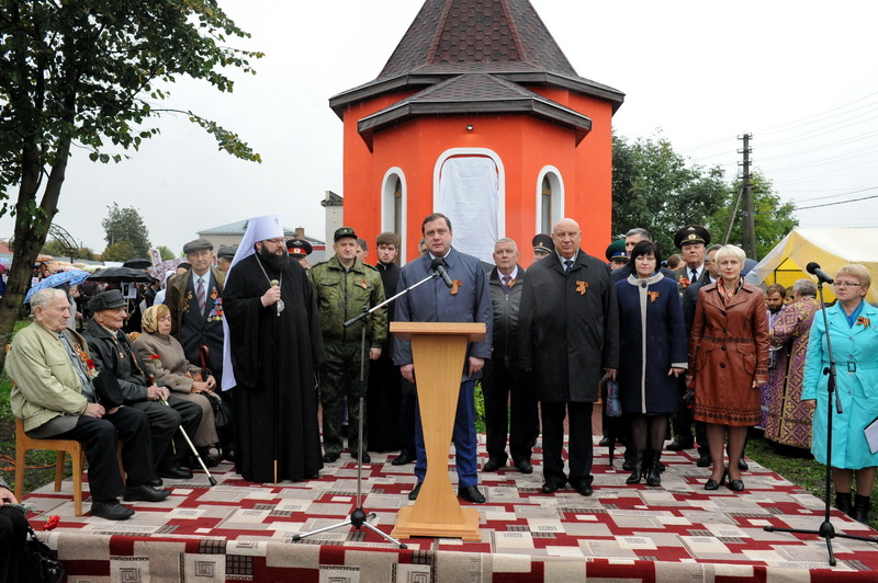
{"label": "blue trousers of the man behind the wooden lectern", "polygon": [[[466,488],[476,485],[476,448],[479,439],[475,436],[475,381],[466,380],[461,382],[458,393],[458,408],[454,413],[454,432],[451,441],[454,443],[454,462],[458,467],[458,485]],[[424,427],[420,423],[420,410],[415,416],[415,449],[417,461],[415,462],[415,476],[418,483],[424,481],[427,475],[427,450],[424,446]],[[439,460],[447,466],[447,460]]]}

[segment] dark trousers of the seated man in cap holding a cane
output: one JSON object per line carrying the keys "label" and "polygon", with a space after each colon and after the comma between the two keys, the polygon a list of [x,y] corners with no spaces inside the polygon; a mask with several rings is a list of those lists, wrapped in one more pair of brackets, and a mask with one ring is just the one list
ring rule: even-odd
{"label": "dark trousers of the seated man in cap holding a cane", "polygon": [[[192,438],[201,423],[201,407],[173,396],[168,399],[170,407],[161,404],[160,401],[138,401],[126,404],[146,413],[146,419],[149,421],[149,432],[153,437],[153,468],[150,469],[155,471],[157,468],[179,468],[183,456],[191,450],[185,438],[177,430],[183,427],[187,435]],[[171,447],[168,447],[169,445]]]}

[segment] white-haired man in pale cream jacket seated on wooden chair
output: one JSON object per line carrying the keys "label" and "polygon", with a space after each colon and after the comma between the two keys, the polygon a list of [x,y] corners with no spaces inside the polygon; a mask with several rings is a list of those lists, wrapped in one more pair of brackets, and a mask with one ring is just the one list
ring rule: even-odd
{"label": "white-haired man in pale cream jacket seated on wooden chair", "polygon": [[[109,374],[95,375],[86,341],[67,328],[70,305],[59,289],[41,289],[31,299],[34,323],[15,334],[5,369],[15,384],[10,401],[24,431],[37,439],[76,439],[89,462],[91,513],[121,521],[134,511],[119,503],[158,502],[169,490],[148,485],[153,473],[146,414],[120,407],[122,393]],[[122,439],[123,484],[116,460]]]}

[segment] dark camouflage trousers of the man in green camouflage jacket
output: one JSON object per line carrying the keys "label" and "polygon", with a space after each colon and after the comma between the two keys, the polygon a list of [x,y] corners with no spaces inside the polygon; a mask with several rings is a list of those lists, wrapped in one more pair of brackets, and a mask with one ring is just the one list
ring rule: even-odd
{"label": "dark camouflage trousers of the man in green camouflage jacket", "polygon": [[[341,454],[345,437],[341,434],[341,414],[345,399],[348,402],[348,448],[356,456],[359,447],[359,422],[363,421],[363,451],[367,439],[365,416],[360,411],[360,344],[327,343],[326,363],[320,369],[320,404],[323,405],[323,450],[325,454]],[[369,359],[365,361],[369,375]],[[365,397],[365,396],[363,396]],[[365,402],[363,401],[363,408]],[[363,411],[364,413],[364,411]]]}

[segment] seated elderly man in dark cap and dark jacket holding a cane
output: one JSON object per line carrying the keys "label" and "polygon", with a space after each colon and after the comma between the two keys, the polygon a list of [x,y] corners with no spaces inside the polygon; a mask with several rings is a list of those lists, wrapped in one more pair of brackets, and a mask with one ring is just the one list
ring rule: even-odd
{"label": "seated elderly man in dark cap and dark jacket holding a cane", "polygon": [[[146,363],[122,332],[127,312],[125,298],[119,289],[98,294],[89,300],[89,308],[94,318],[83,336],[92,358],[99,369],[110,370],[119,380],[125,404],[146,413],[153,434],[153,460],[159,478],[192,478],[192,472],[181,467],[189,446],[177,430],[182,425],[189,435],[195,433],[201,422],[201,408],[171,397],[167,387],[159,387],[154,378],[149,378]],[[171,439],[173,446],[169,447]],[[160,485],[161,482],[156,479],[156,483]]]}

